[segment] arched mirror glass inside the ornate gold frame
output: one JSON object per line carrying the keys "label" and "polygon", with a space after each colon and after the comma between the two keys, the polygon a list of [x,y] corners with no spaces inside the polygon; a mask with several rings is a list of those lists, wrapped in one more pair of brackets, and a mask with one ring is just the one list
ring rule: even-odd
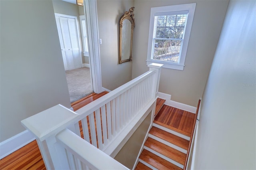
{"label": "arched mirror glass inside the ornate gold frame", "polygon": [[131,33],[131,22],[129,20],[124,20],[122,27],[122,60],[130,59]]}

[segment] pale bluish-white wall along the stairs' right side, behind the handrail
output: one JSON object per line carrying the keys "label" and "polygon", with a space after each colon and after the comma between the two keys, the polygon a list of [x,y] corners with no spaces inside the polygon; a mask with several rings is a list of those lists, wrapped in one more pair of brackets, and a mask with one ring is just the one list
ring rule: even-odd
{"label": "pale bluish-white wall along the stairs' right side, behind the handrail", "polygon": [[256,169],[255,1],[229,2],[202,97],[194,169]]}

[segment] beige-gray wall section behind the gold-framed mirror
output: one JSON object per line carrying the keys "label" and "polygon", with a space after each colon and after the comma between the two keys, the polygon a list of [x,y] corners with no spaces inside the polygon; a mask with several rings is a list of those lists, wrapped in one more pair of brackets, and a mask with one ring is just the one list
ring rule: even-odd
{"label": "beige-gray wall section behind the gold-framed mirror", "polygon": [[102,87],[114,90],[132,79],[132,62],[118,64],[119,19],[134,0],[97,0]]}

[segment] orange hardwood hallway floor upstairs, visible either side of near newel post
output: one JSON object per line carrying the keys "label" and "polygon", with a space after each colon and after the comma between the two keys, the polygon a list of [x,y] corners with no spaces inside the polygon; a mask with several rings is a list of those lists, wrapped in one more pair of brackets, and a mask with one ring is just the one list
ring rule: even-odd
{"label": "orange hardwood hallway floor upstairs, visible either side of near newel post", "polygon": [[[108,92],[104,91],[100,94],[92,93],[91,95],[80,99],[74,103],[71,103],[74,111],[77,111],[81,107],[91,103],[92,101],[106,95]],[[23,146],[19,150],[16,150],[12,154],[2,158],[0,160],[1,170],[45,170],[44,161],[42,159],[40,150],[36,143],[36,140]]]}

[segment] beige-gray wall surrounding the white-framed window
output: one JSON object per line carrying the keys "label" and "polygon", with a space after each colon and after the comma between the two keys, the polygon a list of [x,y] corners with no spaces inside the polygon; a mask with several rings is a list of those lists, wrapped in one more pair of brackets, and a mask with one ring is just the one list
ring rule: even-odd
{"label": "beige-gray wall surrounding the white-framed window", "polygon": [[196,2],[196,10],[183,71],[161,71],[159,91],[172,100],[196,107],[202,97],[228,5],[227,0],[135,0],[132,78],[146,66],[150,8]]}

